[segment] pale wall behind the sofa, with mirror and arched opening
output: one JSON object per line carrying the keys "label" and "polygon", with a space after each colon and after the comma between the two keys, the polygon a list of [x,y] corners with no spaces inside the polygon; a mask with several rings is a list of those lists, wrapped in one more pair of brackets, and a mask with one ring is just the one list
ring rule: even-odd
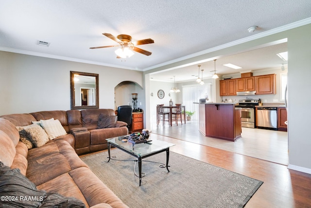
{"label": "pale wall behind the sofa, with mirror and arched opening", "polygon": [[122,81],[143,86],[139,71],[0,51],[0,115],[69,110],[70,71],[99,74],[100,108],[115,108]]}

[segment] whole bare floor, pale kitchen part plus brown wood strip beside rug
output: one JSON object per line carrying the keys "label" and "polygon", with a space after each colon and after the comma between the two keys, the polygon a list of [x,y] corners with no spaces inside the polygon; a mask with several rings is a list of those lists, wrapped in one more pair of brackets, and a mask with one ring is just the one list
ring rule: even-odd
{"label": "whole bare floor, pale kitchen part plus brown wood strip beside rug", "polygon": [[170,149],[176,153],[263,181],[245,208],[311,208],[311,174],[287,169],[287,132],[243,128],[241,142],[227,142],[202,136],[195,123],[155,124],[150,138],[176,144]]}

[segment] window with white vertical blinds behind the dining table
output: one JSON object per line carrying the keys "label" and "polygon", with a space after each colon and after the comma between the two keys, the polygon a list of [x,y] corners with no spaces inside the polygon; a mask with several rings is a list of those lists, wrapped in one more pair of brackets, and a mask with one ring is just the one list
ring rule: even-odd
{"label": "window with white vertical blinds behind the dining table", "polygon": [[186,111],[195,112],[192,115],[192,120],[199,119],[199,105],[194,104],[198,103],[200,99],[206,98],[208,96],[210,102],[212,102],[212,84],[207,83],[204,85],[186,85],[182,86],[183,94],[183,105],[186,106]]}

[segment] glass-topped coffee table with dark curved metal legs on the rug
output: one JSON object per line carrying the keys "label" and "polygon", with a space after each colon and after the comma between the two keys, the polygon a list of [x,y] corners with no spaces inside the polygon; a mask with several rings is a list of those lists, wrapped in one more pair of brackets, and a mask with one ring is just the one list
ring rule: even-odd
{"label": "glass-topped coffee table with dark curved metal legs on the rug", "polygon": [[[127,136],[127,135],[125,135]],[[125,136],[118,136],[106,139],[108,142],[108,162],[110,161],[110,146],[116,147],[122,151],[127,152],[137,158],[138,161],[138,172],[139,172],[139,186],[141,185],[141,161],[143,158],[155,155],[157,153],[166,151],[166,164],[160,166],[161,168],[166,168],[169,172],[169,156],[170,156],[170,147],[174,146],[175,144],[160,141],[160,140],[147,140],[145,143],[140,144],[133,144],[130,142],[122,142]]]}

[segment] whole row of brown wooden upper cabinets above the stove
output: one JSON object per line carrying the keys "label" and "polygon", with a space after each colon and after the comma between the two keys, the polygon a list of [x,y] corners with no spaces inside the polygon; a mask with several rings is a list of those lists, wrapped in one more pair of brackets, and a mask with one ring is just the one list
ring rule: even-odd
{"label": "whole row of brown wooden upper cabinets above the stove", "polygon": [[256,95],[276,94],[276,74],[220,80],[220,96],[256,91]]}

